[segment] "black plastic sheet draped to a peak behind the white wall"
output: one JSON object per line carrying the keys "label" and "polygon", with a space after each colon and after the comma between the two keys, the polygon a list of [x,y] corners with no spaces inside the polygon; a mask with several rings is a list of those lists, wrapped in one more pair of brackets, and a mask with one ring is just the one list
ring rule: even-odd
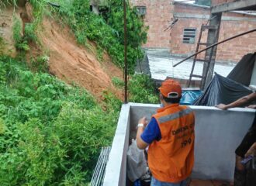
{"label": "black plastic sheet draped to a peak behind the white wall", "polygon": [[214,106],[220,103],[229,104],[251,93],[251,89],[244,86],[244,84],[215,74],[213,80],[203,94],[195,101],[194,105]]}

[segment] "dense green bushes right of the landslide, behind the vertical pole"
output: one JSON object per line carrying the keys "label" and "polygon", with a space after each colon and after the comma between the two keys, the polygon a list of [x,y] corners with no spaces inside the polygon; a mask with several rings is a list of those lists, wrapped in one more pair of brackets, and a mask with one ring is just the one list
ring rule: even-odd
{"label": "dense green bushes right of the landslide, behind the vertical pole", "polygon": [[[90,11],[89,0],[57,1],[61,7],[56,9],[61,18],[68,22],[78,40],[78,43],[88,45],[87,40],[93,40],[99,47],[106,50],[112,60],[119,67],[123,67],[123,2],[109,0],[106,14],[107,20]],[[127,38],[128,38],[128,64],[129,71],[133,68],[137,59],[143,57],[140,45],[147,40],[147,28],[136,14],[136,9],[127,10]],[[99,58],[101,57],[99,50]]]}

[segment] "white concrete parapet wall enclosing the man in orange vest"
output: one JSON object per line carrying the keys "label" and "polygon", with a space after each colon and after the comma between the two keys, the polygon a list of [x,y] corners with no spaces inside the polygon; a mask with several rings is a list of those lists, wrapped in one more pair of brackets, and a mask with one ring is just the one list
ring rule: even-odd
{"label": "white concrete parapet wall enclosing the man in orange vest", "polygon": [[[135,103],[123,105],[103,185],[126,185],[129,140],[135,137],[138,119],[144,115],[150,119],[158,106]],[[231,108],[227,111],[203,106],[191,108],[195,111],[195,166],[192,177],[232,180],[234,150],[250,128],[255,111],[250,108]]]}

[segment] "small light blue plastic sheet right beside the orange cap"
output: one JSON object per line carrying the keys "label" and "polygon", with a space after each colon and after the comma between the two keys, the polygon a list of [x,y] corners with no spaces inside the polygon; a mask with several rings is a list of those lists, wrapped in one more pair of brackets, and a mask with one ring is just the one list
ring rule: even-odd
{"label": "small light blue plastic sheet right beside the orange cap", "polygon": [[193,105],[195,100],[199,98],[199,96],[202,95],[202,91],[187,91],[182,90],[182,99],[180,104],[181,105]]}

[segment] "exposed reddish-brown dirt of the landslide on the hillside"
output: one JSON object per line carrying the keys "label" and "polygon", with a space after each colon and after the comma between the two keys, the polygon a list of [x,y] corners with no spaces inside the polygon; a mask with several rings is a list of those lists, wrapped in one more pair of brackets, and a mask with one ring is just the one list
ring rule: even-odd
{"label": "exposed reddish-brown dirt of the landslide on the hillside", "polygon": [[[16,15],[22,19],[22,26],[26,22],[33,20],[32,9],[30,5],[24,8],[16,9]],[[25,13],[25,14],[24,14]],[[3,32],[8,35],[6,40],[9,45],[13,46],[10,40],[12,33],[12,15],[13,11],[4,10],[1,15],[8,17],[9,29]],[[0,17],[2,20],[2,17]],[[2,22],[0,22],[2,23]],[[57,23],[56,20],[45,18],[38,37],[41,43],[40,49],[35,45],[30,46],[29,57],[37,56],[43,51],[50,57],[50,73],[56,75],[67,83],[78,84],[97,98],[102,98],[103,91],[110,91],[118,98],[122,98],[122,91],[116,89],[112,84],[112,77],[122,78],[122,71],[112,64],[109,55],[105,52],[103,60],[99,61],[96,57],[95,45],[90,42],[91,49],[78,46],[74,34],[68,26]],[[13,49],[13,47],[12,47]],[[13,50],[15,51],[15,50]]]}

